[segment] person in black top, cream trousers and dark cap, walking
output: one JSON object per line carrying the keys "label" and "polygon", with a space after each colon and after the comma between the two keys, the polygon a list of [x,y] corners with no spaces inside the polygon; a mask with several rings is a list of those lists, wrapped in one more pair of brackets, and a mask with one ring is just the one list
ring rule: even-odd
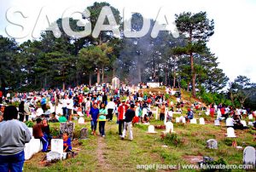
{"label": "person in black top, cream trousers and dark cap, walking", "polygon": [[126,130],[128,130],[129,132],[129,139],[133,140],[133,135],[132,135],[132,119],[135,117],[135,105],[131,104],[130,109],[128,109],[125,112],[125,120],[124,120],[124,130],[123,130],[123,135],[121,137],[122,140],[125,139],[125,134],[126,134]]}

